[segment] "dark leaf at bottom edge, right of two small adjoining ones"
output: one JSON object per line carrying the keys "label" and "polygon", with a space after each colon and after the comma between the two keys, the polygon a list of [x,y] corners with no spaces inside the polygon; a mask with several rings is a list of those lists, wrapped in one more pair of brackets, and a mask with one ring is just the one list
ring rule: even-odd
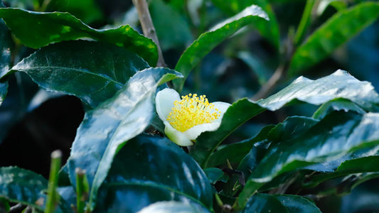
{"label": "dark leaf at bottom edge, right of two small adjoining ones", "polygon": [[273,195],[291,213],[321,213],[320,209],[308,199],[297,195]]}

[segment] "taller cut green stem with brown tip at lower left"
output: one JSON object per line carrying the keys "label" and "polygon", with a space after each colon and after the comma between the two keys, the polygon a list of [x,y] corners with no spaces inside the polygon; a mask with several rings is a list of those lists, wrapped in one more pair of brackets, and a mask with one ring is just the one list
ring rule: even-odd
{"label": "taller cut green stem with brown tip at lower left", "polygon": [[59,202],[58,192],[56,191],[58,185],[58,172],[62,160],[62,152],[56,150],[51,153],[50,163],[50,177],[48,180],[48,198],[46,201],[45,213],[55,212],[55,207]]}

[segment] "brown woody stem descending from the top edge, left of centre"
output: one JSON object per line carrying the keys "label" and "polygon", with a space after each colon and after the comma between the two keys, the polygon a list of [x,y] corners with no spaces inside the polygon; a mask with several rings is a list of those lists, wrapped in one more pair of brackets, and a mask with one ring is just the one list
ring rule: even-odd
{"label": "brown woody stem descending from the top edge, left of centre", "polygon": [[139,22],[141,23],[144,35],[146,35],[147,38],[151,38],[154,43],[156,43],[156,47],[158,48],[158,62],[156,63],[156,67],[165,67],[166,63],[164,62],[161,46],[159,45],[159,40],[156,36],[153,21],[151,21],[151,16],[149,8],[146,4],[146,0],[133,0],[133,4],[137,8]]}

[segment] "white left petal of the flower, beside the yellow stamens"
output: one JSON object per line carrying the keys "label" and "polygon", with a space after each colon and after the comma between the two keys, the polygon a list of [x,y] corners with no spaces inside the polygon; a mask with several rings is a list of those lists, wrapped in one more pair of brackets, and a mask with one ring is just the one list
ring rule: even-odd
{"label": "white left petal of the flower, beside the yellow stamens", "polygon": [[[162,121],[166,121],[171,109],[174,107],[174,102],[181,100],[178,92],[175,89],[165,88],[156,93],[155,108],[156,113]],[[169,124],[170,125],[170,124]]]}

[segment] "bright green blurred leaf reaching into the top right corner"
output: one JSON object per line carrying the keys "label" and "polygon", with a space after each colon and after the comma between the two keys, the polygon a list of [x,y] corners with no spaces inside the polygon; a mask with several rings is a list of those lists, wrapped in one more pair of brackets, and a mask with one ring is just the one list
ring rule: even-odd
{"label": "bright green blurred leaf reaching into the top right corner", "polygon": [[289,75],[298,75],[299,72],[323,60],[373,23],[378,16],[378,2],[365,2],[351,9],[338,11],[296,50],[289,66]]}

